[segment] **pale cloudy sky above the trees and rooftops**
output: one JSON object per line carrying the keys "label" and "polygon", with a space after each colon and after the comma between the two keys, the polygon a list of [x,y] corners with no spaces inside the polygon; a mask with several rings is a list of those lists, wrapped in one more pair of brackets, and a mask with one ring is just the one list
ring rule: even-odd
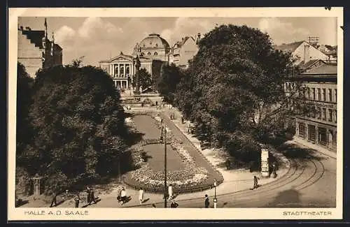
{"label": "pale cloudy sky above the trees and rooftops", "polygon": [[[157,33],[174,45],[184,36],[206,34],[221,24],[246,25],[269,34],[276,45],[307,41],[337,45],[336,17],[47,17],[48,34],[63,48],[63,64],[83,57],[84,65],[132,54],[136,43]],[[18,24],[32,30],[44,29],[44,17],[19,17]]]}

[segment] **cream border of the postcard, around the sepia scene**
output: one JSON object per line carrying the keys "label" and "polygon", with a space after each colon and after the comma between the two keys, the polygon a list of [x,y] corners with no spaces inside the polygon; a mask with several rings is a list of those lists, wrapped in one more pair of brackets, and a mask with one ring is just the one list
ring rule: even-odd
{"label": "cream border of the postcard, around the sepia scene", "polygon": [[[88,215],[25,215],[24,212],[51,210],[79,210],[83,208],[15,208],[15,113],[17,78],[17,26],[18,17],[337,17],[338,25],[338,100],[337,100],[337,208],[220,208],[205,210],[196,208],[149,209],[149,208],[89,208]],[[342,219],[343,179],[343,8],[10,8],[8,15],[8,220],[200,220],[200,219]],[[283,215],[283,212],[332,212],[330,216]],[[137,212],[137,215],[134,213]]]}

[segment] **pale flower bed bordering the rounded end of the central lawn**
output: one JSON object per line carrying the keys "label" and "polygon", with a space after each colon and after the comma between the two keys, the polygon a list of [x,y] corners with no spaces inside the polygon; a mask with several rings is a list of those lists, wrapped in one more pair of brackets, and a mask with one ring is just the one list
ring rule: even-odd
{"label": "pale flower bed bordering the rounded end of the central lawn", "polygon": [[[160,129],[161,119],[157,115],[148,114],[155,119],[155,124]],[[130,122],[130,121],[129,121]],[[131,122],[130,122],[131,123]],[[133,124],[133,123],[131,123]],[[181,157],[182,168],[167,172],[167,185],[172,184],[174,191],[183,191],[183,189],[194,189],[196,186],[205,185],[209,175],[205,168],[197,166],[193,157],[184,149],[182,141],[174,138],[172,131],[167,129],[167,142]],[[144,162],[141,158],[141,153],[144,152],[143,146],[148,144],[160,143],[160,140],[142,140],[133,149],[134,163],[139,167],[132,171],[129,179],[125,179],[129,184],[135,187],[144,188],[149,191],[163,191],[164,190],[164,171],[155,171],[151,168],[149,163]]]}

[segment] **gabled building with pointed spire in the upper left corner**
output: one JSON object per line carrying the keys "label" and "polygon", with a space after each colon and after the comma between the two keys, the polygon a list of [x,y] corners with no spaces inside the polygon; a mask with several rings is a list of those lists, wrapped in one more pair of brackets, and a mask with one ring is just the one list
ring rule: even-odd
{"label": "gabled building with pointed spire in the upper left corner", "polygon": [[36,77],[40,68],[50,68],[62,65],[62,47],[48,38],[48,27],[45,20],[45,30],[31,30],[18,27],[18,61],[26,68],[31,78]]}

